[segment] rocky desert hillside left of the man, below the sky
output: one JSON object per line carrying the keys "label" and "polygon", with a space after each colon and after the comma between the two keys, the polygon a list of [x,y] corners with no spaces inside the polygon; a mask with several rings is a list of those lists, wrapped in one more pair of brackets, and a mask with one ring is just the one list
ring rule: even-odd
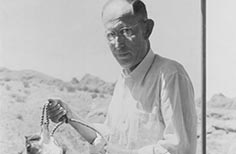
{"label": "rocky desert hillside left of the man, below the sky", "polygon": [[[35,71],[0,68],[0,153],[20,153],[24,136],[39,133],[42,106],[48,98],[61,98],[84,119],[103,122],[114,84],[86,76],[64,82]],[[87,153],[87,143],[71,127],[61,126],[55,137],[67,154]]]}

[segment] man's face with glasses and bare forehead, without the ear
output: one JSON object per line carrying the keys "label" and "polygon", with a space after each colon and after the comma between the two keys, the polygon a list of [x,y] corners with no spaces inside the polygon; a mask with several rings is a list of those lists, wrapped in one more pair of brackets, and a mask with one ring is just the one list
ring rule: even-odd
{"label": "man's face with glasses and bare forehead, without the ear", "polygon": [[140,63],[147,52],[143,21],[127,9],[119,11],[110,9],[104,13],[105,35],[116,60],[123,68],[130,69]]}

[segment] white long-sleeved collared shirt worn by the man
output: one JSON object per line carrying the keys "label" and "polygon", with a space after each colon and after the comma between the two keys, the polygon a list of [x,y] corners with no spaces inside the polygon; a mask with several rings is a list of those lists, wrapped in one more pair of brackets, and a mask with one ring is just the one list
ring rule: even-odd
{"label": "white long-sleeved collared shirt worn by the man", "polygon": [[140,154],[195,154],[197,116],[186,71],[150,50],[131,73],[122,71],[106,121],[95,126],[109,142]]}

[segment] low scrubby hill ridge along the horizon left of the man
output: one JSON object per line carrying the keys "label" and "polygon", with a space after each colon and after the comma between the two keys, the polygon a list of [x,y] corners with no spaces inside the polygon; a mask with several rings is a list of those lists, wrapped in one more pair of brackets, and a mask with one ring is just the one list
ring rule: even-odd
{"label": "low scrubby hill ridge along the horizon left of the man", "polygon": [[29,84],[44,84],[69,92],[80,90],[103,94],[112,94],[115,86],[114,83],[105,82],[90,74],[86,74],[80,81],[74,77],[70,82],[65,82],[33,70],[14,71],[7,68],[0,68],[0,81],[20,81],[25,86]]}

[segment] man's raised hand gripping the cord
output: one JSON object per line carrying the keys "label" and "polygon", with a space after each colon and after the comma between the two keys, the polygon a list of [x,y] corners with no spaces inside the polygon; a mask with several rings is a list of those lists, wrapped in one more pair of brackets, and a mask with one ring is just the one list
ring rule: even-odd
{"label": "man's raised hand gripping the cord", "polygon": [[73,113],[66,103],[64,103],[60,99],[49,99],[48,101],[48,116],[49,119],[51,119],[53,122],[58,123],[65,115],[69,119],[72,118]]}

